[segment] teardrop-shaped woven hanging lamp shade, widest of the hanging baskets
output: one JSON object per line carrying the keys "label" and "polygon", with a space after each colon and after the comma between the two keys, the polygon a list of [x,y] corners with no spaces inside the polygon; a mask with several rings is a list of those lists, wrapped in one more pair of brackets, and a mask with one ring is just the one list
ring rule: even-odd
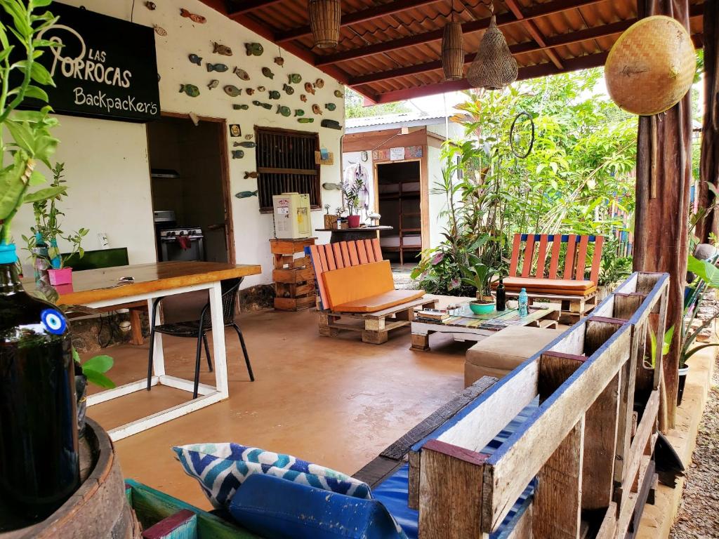
{"label": "teardrop-shaped woven hanging lamp shade, widest of the hanging baskets", "polygon": [[500,90],[517,80],[517,61],[509,52],[494,15],[482,36],[477,56],[467,70],[467,80],[474,88],[487,90]]}

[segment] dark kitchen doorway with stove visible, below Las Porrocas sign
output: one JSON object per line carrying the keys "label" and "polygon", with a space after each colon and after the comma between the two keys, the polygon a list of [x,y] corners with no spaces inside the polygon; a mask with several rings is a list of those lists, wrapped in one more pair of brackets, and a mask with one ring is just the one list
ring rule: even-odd
{"label": "dark kitchen doorway with stove visible, below Las Porrocas sign", "polygon": [[147,124],[157,260],[234,263],[221,119],[163,114]]}

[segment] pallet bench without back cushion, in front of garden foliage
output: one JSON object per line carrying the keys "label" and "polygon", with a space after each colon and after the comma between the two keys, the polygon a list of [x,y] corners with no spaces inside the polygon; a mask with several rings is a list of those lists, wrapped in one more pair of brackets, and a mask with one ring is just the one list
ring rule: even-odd
{"label": "pallet bench without back cushion, in front of garden foliage", "polygon": [[[590,278],[585,280],[590,244],[594,244],[594,252]],[[578,321],[597,305],[603,244],[603,236],[515,234],[509,274],[504,280],[507,296],[516,298],[524,287],[530,304],[538,301],[560,303],[560,323]],[[562,245],[566,245],[563,268],[559,267]]]}

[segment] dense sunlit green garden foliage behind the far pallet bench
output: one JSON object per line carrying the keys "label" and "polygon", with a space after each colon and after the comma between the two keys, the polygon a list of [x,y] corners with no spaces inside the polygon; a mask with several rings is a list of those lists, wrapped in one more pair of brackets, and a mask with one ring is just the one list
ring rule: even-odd
{"label": "dense sunlit green garden foliage behind the far pallet bench", "polygon": [[[464,93],[452,117],[464,137],[444,145],[446,166],[433,190],[446,200],[444,239],[422,253],[413,272],[423,288],[466,293],[459,268],[470,265],[470,254],[502,270],[518,232],[610,236],[628,226],[636,118],[592,95],[600,76],[586,70]],[[526,159],[516,157],[509,139],[520,112],[536,128]],[[526,140],[527,122],[518,128],[516,136]],[[611,256],[609,249],[605,254]]]}

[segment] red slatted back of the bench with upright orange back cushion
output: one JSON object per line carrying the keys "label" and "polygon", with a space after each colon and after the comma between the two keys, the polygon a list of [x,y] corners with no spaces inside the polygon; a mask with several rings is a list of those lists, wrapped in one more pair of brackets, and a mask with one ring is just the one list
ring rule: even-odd
{"label": "red slatted back of the bench with upright orange back cushion", "polygon": [[311,245],[310,247],[306,247],[306,249],[309,249],[312,267],[314,268],[317,281],[317,288],[319,289],[319,297],[324,308],[326,308],[326,305],[329,305],[324,280],[322,279],[324,272],[339,270],[348,266],[358,266],[359,264],[369,264],[370,262],[380,262],[382,260],[380,240],[377,238],[338,241],[334,244]]}

